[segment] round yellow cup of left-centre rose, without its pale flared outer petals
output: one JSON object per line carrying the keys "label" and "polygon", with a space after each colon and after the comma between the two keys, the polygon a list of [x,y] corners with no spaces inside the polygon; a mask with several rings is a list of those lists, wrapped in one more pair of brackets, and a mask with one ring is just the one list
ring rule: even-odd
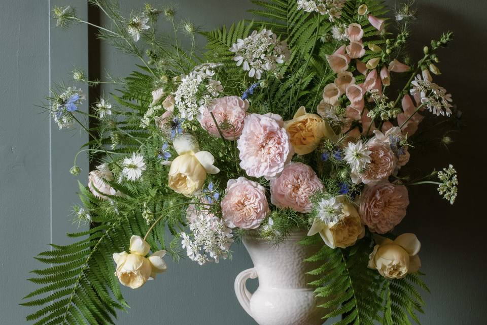
{"label": "round yellow cup of left-centre rose, without its pale flared outer petals", "polygon": [[194,154],[176,157],[169,169],[169,187],[187,197],[203,187],[206,171]]}

